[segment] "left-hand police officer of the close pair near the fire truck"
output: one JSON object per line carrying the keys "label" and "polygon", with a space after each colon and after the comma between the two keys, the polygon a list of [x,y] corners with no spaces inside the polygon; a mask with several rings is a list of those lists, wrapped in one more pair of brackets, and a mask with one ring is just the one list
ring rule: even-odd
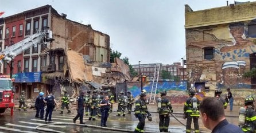
{"label": "left-hand police officer of the close pair near the fire truck", "polygon": [[[36,118],[44,119],[44,92],[40,92],[39,96],[36,98],[36,102],[34,103],[34,107],[36,107]],[[40,117],[39,117],[40,113]]]}

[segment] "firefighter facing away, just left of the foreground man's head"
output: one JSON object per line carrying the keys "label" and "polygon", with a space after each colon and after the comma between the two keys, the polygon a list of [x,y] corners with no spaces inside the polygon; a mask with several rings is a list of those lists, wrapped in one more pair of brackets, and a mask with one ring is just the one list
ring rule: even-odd
{"label": "firefighter facing away, just left of the foreground man's head", "polygon": [[184,119],[187,118],[186,132],[191,132],[191,123],[193,119],[195,132],[199,132],[198,118],[199,114],[199,100],[196,98],[196,92],[193,89],[188,91],[189,97],[184,103]]}

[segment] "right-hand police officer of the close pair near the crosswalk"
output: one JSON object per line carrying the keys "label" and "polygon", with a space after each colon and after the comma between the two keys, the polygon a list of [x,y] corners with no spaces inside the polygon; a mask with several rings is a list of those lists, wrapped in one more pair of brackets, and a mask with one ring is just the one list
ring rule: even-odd
{"label": "right-hand police officer of the close pair near the crosswalk", "polygon": [[[43,100],[44,103],[46,103],[47,107],[46,107],[46,114],[45,114],[45,122],[48,120],[49,122],[52,121],[52,111],[53,108],[55,108],[56,105],[56,100],[55,97],[52,95],[52,93],[49,94],[49,96],[45,97],[45,99]],[[48,118],[49,115],[49,119]]]}

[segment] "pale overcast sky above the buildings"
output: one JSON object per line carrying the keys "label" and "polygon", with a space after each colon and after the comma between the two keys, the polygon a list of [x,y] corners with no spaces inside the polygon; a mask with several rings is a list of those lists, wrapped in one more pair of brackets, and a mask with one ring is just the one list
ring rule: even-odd
{"label": "pale overcast sky above the buildings", "polygon": [[91,24],[94,30],[108,34],[111,49],[122,53],[121,58],[128,57],[130,64],[138,64],[139,60],[141,64],[172,64],[185,58],[185,4],[196,11],[227,3],[226,0],[0,0],[0,11],[5,11],[1,17],[7,17],[51,5],[59,14],[67,14],[68,19]]}

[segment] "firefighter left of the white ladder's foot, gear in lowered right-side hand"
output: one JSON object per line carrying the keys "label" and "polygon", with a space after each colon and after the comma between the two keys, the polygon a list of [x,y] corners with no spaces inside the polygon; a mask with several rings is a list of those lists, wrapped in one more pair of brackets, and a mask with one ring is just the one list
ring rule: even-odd
{"label": "firefighter left of the white ladder's foot, gear in lowered right-side hand", "polygon": [[[139,99],[135,101],[135,117],[138,118],[139,123],[134,132],[144,132],[145,119],[148,114],[148,118],[151,118],[151,114],[148,111],[146,105],[146,93],[142,92]],[[150,119],[149,119],[150,120]],[[152,120],[152,118],[151,118]]]}

